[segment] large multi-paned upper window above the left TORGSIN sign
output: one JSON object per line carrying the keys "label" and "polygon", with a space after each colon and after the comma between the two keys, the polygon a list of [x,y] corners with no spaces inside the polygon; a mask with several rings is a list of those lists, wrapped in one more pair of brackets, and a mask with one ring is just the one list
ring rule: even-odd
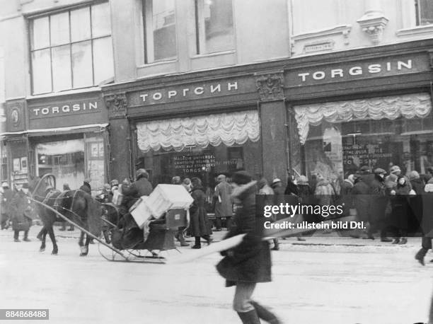
{"label": "large multi-paned upper window above the left TORGSIN sign", "polygon": [[30,21],[33,94],[94,86],[114,76],[108,3]]}

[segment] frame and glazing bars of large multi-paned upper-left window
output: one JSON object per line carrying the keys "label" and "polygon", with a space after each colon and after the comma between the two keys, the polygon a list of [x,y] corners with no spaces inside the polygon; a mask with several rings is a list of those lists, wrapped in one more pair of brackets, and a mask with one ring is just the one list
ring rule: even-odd
{"label": "frame and glazing bars of large multi-paned upper-left window", "polygon": [[[26,23],[27,23],[27,30],[28,30],[28,59],[29,59],[29,67],[30,67],[30,91],[32,96],[39,96],[44,95],[47,93],[61,93],[62,91],[73,91],[73,90],[79,90],[83,88],[91,88],[94,86],[98,86],[95,80],[95,61],[94,59],[94,53],[93,53],[93,42],[95,40],[110,38],[111,40],[111,46],[112,46],[112,26],[110,26],[110,33],[105,33],[103,35],[98,35],[96,37],[93,37],[93,24],[92,24],[92,9],[94,6],[98,6],[99,4],[108,4],[110,8],[110,2],[107,0],[96,0],[92,2],[86,2],[79,5],[72,5],[72,6],[64,6],[62,8],[59,8],[57,10],[51,10],[51,11],[42,11],[40,13],[33,13],[28,16],[25,16]],[[90,37],[86,37],[86,39],[83,40],[75,40],[72,41],[71,39],[71,11],[76,11],[79,9],[88,8],[88,14],[89,14],[89,28],[90,28]],[[69,42],[61,44],[61,45],[52,45],[51,40],[51,16],[57,15],[59,13],[68,13],[68,28],[69,28]],[[111,16],[111,13],[110,13]],[[38,47],[36,50],[33,48],[33,25],[34,21],[38,18],[48,18],[48,33],[49,33],[49,44],[48,46],[44,47]],[[110,22],[111,25],[111,22]],[[74,71],[73,71],[73,59],[72,59],[72,47],[73,45],[83,43],[83,42],[90,42],[91,46],[91,65],[92,65],[92,84],[88,86],[77,86],[74,87]],[[70,61],[70,88],[64,88],[59,91],[54,90],[54,76],[53,76],[53,55],[52,55],[52,49],[62,47],[62,46],[69,46],[69,61]],[[41,91],[35,93],[35,80],[34,80],[34,73],[33,73],[33,53],[39,52],[42,50],[49,50],[50,51],[50,91]],[[114,54],[114,53],[113,53]],[[112,60],[112,67],[113,67],[113,76],[114,76],[114,59]]]}

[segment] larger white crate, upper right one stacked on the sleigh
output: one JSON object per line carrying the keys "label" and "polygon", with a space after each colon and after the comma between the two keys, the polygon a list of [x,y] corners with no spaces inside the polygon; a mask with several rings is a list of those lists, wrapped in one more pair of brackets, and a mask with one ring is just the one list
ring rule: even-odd
{"label": "larger white crate, upper right one stacked on the sleigh", "polygon": [[194,199],[183,185],[157,185],[146,199],[146,205],[156,219],[168,209],[188,209]]}

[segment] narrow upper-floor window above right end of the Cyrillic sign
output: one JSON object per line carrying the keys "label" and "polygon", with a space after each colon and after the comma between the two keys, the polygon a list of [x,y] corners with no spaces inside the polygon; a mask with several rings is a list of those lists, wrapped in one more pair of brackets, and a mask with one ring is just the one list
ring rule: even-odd
{"label": "narrow upper-floor window above right end of the Cyrillic sign", "polygon": [[231,0],[195,0],[197,54],[233,50]]}

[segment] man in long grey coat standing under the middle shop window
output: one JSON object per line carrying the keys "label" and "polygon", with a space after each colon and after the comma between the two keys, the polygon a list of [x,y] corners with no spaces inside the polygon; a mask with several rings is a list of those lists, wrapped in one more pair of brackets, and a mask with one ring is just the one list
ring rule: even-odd
{"label": "man in long grey coat standing under the middle shop window", "polygon": [[233,205],[231,203],[231,186],[226,181],[224,174],[218,175],[218,185],[215,187],[215,227],[221,231],[221,218],[226,218],[226,228],[230,229],[231,216],[233,216]]}

